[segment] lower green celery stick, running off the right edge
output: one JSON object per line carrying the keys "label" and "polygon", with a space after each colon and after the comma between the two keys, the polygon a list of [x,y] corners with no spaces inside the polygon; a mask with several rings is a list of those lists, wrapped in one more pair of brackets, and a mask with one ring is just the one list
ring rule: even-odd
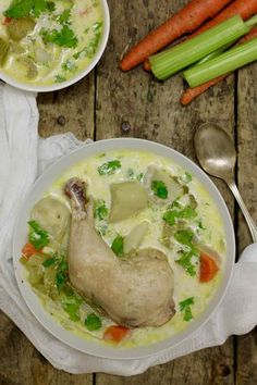
{"label": "lower green celery stick, running off the right edge", "polygon": [[196,65],[184,72],[188,85],[198,87],[213,78],[233,72],[257,60],[257,38],[232,48],[206,63]]}

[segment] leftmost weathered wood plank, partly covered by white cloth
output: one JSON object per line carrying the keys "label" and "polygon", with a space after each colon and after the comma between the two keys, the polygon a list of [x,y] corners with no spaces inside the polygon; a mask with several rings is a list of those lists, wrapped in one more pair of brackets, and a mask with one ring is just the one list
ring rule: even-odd
{"label": "leftmost weathered wood plank, partly covered by white cloth", "polygon": [[[72,132],[94,138],[95,73],[65,90],[38,96],[42,137]],[[93,375],[70,375],[53,369],[4,314],[0,314],[1,385],[90,385]]]}

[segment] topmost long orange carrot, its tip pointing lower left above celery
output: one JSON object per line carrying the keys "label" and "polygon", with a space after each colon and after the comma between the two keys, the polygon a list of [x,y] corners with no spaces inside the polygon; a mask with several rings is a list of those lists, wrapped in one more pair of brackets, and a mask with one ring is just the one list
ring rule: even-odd
{"label": "topmost long orange carrot, its tip pointing lower left above celery", "polygon": [[197,29],[232,0],[192,0],[166,23],[152,30],[124,57],[122,71],[130,71],[176,38]]}

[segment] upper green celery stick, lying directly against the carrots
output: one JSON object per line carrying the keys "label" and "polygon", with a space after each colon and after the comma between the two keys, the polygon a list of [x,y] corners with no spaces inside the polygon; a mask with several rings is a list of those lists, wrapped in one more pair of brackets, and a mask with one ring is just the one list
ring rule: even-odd
{"label": "upper green celery stick, lying directly against the carrots", "polygon": [[150,57],[151,71],[158,79],[164,80],[248,32],[242,17],[235,15],[191,40]]}

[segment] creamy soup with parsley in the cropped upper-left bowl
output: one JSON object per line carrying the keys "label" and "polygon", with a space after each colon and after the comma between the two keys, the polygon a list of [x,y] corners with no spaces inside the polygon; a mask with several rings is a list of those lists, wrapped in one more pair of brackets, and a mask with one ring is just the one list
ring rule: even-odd
{"label": "creamy soup with parsley in the cropped upper-left bowl", "polygon": [[100,0],[1,0],[0,69],[22,83],[69,80],[91,62],[102,30]]}

